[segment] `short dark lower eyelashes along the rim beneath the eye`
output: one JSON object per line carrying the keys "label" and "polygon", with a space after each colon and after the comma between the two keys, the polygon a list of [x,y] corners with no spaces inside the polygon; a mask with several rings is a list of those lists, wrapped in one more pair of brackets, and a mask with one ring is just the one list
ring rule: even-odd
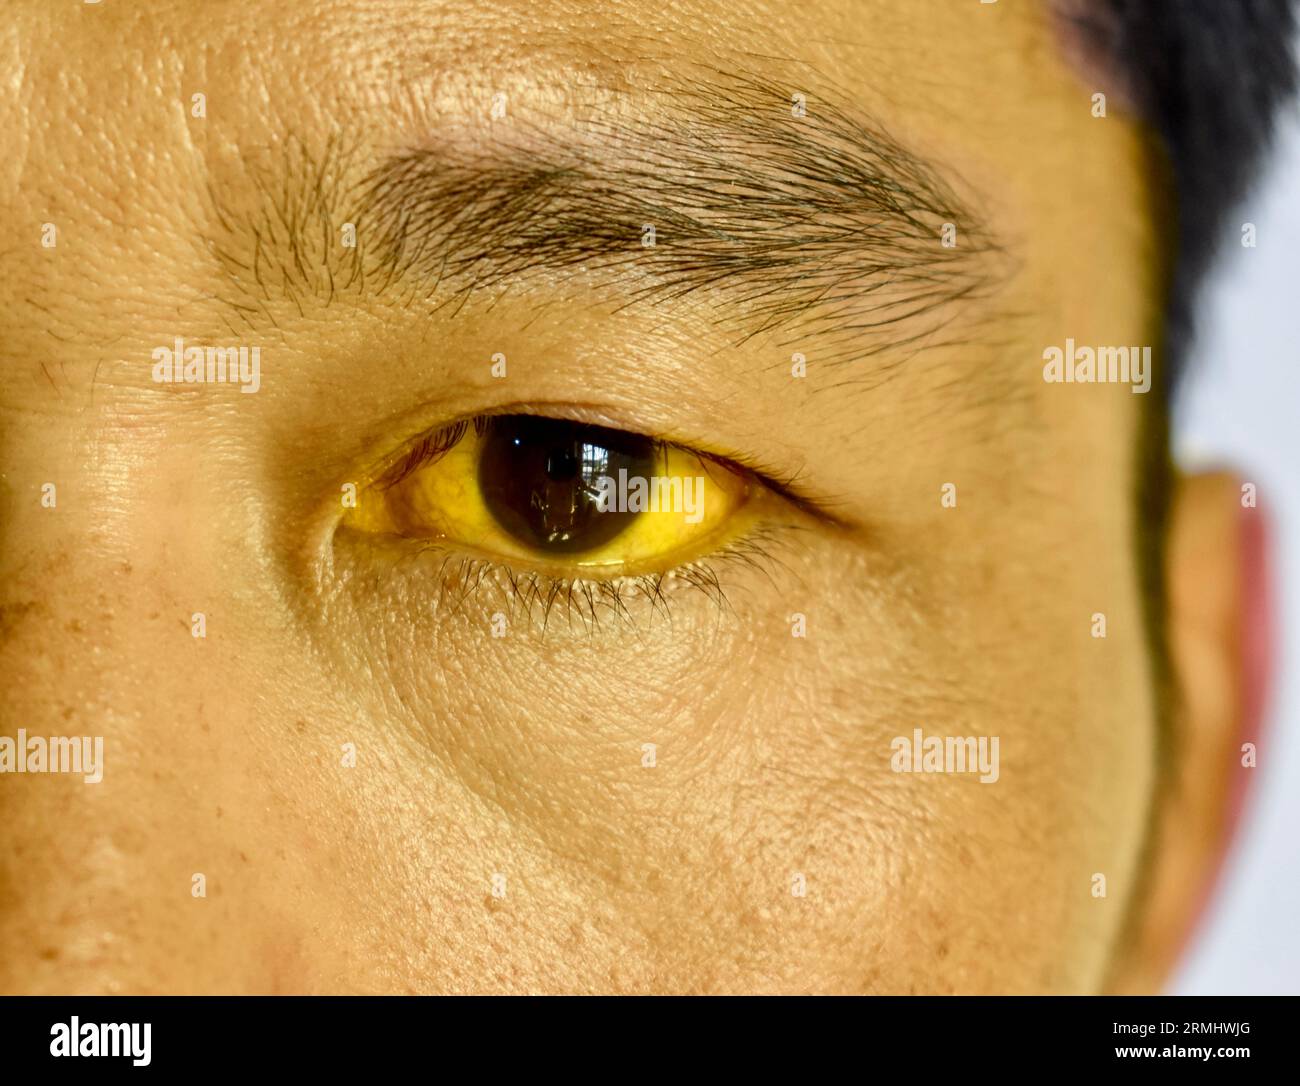
{"label": "short dark lower eyelashes along the rim beneath the eye", "polygon": [[[796,525],[764,525],[712,554],[660,574],[637,574],[614,579],[555,576],[533,570],[515,570],[502,562],[474,558],[441,544],[419,544],[421,558],[442,562],[434,574],[438,581],[437,609],[456,614],[472,603],[490,600],[497,593],[508,606],[507,619],[523,613],[528,623],[538,623],[545,633],[552,616],[562,616],[567,627],[575,624],[588,633],[601,628],[602,619],[637,628],[634,610],[671,622],[673,601],[680,592],[698,590],[719,613],[732,613],[723,584],[728,568],[748,568],[772,580],[776,568],[789,571],[779,551],[789,546]],[[775,581],[774,581],[775,583]]]}

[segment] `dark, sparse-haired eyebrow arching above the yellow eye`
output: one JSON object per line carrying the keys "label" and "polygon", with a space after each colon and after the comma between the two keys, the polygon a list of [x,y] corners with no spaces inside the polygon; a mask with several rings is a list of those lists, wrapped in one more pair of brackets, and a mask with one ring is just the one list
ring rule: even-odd
{"label": "dark, sparse-haired eyebrow arching above the yellow eye", "polygon": [[[708,295],[738,342],[833,336],[848,360],[932,339],[945,307],[997,285],[982,258],[998,247],[936,168],[831,100],[809,95],[796,116],[786,90],[714,73],[649,101],[497,122],[486,143],[404,150],[351,183],[335,140],[291,143],[278,172],[254,174],[256,212],[218,208],[209,248],[242,294],[226,300],[244,317],[277,294],[459,310],[540,272],[594,276],[618,308]],[[355,247],[337,241],[344,222]]]}

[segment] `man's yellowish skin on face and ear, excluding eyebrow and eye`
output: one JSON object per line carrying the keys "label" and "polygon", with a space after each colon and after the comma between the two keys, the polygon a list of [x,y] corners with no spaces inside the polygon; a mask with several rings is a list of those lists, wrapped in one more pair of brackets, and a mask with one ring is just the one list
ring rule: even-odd
{"label": "man's yellowish skin on face and ear, excluding eyebrow and eye", "polygon": [[[1180,484],[1166,771],[1196,787],[1162,799],[1130,497],[1154,403],[1040,367],[1067,336],[1153,342],[1165,239],[1139,125],[1118,94],[1092,116],[1106,77],[1043,5],[14,0],[0,44],[0,734],[107,760],[98,786],[0,778],[0,990],[1160,983],[1235,766],[1238,509]],[[430,134],[564,138],[593,99],[653,118],[699,66],[814,122],[852,103],[979,209],[1005,259],[949,342],[846,369],[815,329],[738,343],[707,294],[581,277],[231,319],[205,239],[291,144],[342,131],[360,177]],[[177,336],[261,345],[259,393],[153,384]],[[768,466],[835,519],[767,498],[797,531],[722,563],[722,610],[689,585],[597,627],[499,583],[448,601],[361,519],[369,472],[520,406]],[[916,727],[998,736],[997,783],[892,773]]]}

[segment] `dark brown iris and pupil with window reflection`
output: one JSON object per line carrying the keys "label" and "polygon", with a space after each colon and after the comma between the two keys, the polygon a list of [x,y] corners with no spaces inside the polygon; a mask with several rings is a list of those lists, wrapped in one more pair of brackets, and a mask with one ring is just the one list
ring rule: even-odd
{"label": "dark brown iris and pupil with window reflection", "polygon": [[552,554],[594,550],[618,536],[634,512],[597,506],[604,475],[649,479],[654,438],[537,415],[488,421],[478,458],[478,489],[500,527]]}

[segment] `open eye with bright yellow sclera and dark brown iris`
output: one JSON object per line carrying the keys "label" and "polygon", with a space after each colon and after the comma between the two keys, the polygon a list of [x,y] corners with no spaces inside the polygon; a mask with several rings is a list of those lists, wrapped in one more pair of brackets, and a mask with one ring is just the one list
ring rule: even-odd
{"label": "open eye with bright yellow sclera and dark brown iris", "polygon": [[494,415],[417,442],[344,523],[480,558],[621,576],[720,545],[757,489],[738,468],[645,434]]}

